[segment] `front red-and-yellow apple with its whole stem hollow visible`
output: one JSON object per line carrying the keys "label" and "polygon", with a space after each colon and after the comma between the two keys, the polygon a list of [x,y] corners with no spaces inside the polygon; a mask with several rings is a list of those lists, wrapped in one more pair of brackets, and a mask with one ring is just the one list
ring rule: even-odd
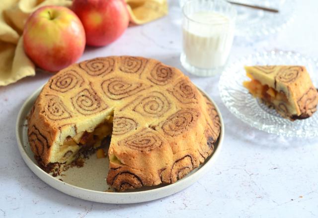
{"label": "front red-and-yellow apple with its whole stem hollow visible", "polygon": [[67,7],[44,6],[34,11],[23,31],[25,53],[47,71],[74,63],[85,49],[85,31],[78,16]]}

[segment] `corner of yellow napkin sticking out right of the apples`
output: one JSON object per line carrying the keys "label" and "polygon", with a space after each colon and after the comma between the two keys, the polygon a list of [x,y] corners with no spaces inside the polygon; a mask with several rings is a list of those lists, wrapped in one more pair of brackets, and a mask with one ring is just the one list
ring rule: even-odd
{"label": "corner of yellow napkin sticking out right of the apples", "polygon": [[168,13],[166,0],[126,0],[130,21],[134,24],[144,24]]}

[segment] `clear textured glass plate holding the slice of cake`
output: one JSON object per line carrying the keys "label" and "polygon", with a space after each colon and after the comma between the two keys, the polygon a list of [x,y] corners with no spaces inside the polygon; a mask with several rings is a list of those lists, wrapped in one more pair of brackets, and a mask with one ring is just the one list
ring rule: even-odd
{"label": "clear textured glass plate holding the slice of cake", "polygon": [[318,59],[293,52],[271,51],[251,54],[229,65],[221,75],[219,90],[226,107],[243,122],[266,131],[288,137],[317,137],[318,112],[313,116],[290,121],[282,118],[274,109],[253,98],[242,86],[249,80],[244,65],[304,65],[314,86],[318,87]]}

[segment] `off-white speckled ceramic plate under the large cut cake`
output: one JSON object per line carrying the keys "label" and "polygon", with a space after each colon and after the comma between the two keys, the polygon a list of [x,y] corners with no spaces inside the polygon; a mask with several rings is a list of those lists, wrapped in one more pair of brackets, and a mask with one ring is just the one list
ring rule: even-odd
{"label": "off-white speckled ceramic plate under the large cut cake", "polygon": [[[83,167],[72,167],[67,171],[64,171],[62,177],[53,177],[38,166],[27,138],[26,116],[31,110],[40,91],[41,88],[25,101],[18,114],[16,121],[16,138],[19,151],[25,163],[40,179],[53,188],[77,198],[101,203],[127,204],[152,201],[172,195],[187,188],[196,182],[202,175],[208,173],[222,146],[224,137],[223,119],[218,107],[210,99],[219,113],[221,122],[221,134],[218,144],[215,147],[215,152],[205,161],[205,163],[192,170],[187,176],[178,180],[176,183],[144,187],[123,193],[105,192],[108,189],[105,178],[108,173],[109,160],[108,158],[97,159],[96,155],[92,155],[88,160],[85,160]],[[204,94],[208,96],[206,93]],[[59,180],[59,178],[62,178],[63,181]]]}

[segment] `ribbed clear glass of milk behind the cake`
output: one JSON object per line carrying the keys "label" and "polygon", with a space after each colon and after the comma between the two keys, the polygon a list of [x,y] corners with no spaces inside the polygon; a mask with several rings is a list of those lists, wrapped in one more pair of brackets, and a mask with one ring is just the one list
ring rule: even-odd
{"label": "ribbed clear glass of milk behind the cake", "polygon": [[198,76],[221,73],[233,44],[235,8],[225,0],[188,0],[182,11],[182,66]]}

